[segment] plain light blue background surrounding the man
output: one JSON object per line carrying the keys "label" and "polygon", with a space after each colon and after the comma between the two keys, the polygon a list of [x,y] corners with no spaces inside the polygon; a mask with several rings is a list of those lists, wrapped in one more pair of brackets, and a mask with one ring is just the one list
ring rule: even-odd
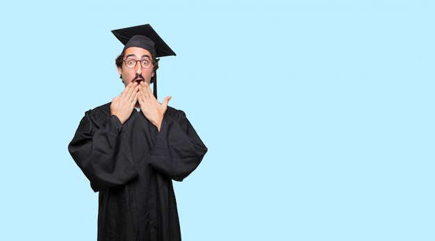
{"label": "plain light blue background surrounding the man", "polygon": [[96,240],[67,152],[151,24],[158,94],[209,151],[183,240],[435,240],[432,1],[1,1],[1,240]]}

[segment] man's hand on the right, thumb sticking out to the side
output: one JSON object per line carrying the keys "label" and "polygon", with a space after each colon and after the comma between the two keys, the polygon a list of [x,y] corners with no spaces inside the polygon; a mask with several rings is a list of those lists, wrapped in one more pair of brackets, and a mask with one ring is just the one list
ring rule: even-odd
{"label": "man's hand on the right, thumb sticking out to the side", "polygon": [[151,88],[149,88],[148,83],[140,82],[139,92],[138,92],[138,101],[140,105],[140,110],[154,126],[157,126],[158,131],[160,131],[163,115],[167,110],[167,103],[170,101],[172,97],[166,97],[163,100],[163,103],[159,103],[154,97]]}

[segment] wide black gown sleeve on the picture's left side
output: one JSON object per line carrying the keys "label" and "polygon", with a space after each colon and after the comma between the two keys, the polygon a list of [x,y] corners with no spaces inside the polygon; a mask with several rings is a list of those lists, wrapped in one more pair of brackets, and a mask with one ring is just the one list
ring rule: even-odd
{"label": "wide black gown sleeve on the picture's left side", "polygon": [[68,150],[95,192],[138,176],[126,138],[116,116],[90,110],[81,119]]}

